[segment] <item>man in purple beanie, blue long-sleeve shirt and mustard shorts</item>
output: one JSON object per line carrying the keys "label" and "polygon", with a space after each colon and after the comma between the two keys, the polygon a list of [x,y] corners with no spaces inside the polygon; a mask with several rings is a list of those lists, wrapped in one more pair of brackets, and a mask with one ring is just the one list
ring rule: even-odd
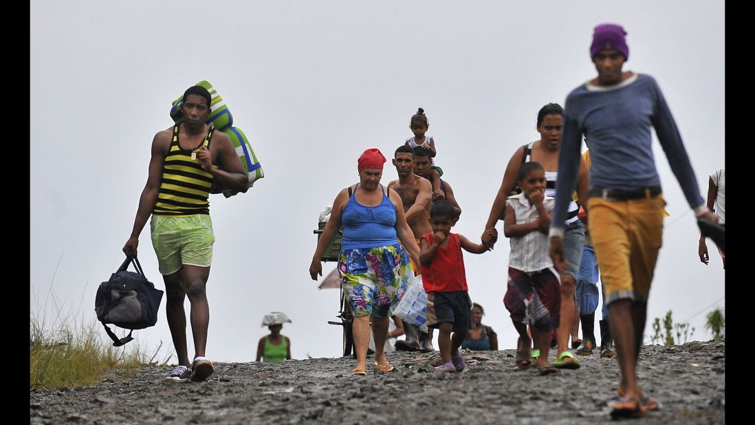
{"label": "man in purple beanie, blue long-sleeve shirt and mustard shorts", "polygon": [[652,128],[689,207],[697,217],[716,221],[700,195],[661,88],[650,75],[622,71],[629,59],[625,35],[624,28],[612,23],[595,27],[590,58],[598,75],[566,97],[550,226],[550,256],[556,268],[565,268],[562,223],[577,180],[581,140],[590,137],[590,191],[584,208],[621,368],[621,399],[612,407],[613,417],[658,409],[657,401],[643,396],[636,377],[666,205],[653,159]]}

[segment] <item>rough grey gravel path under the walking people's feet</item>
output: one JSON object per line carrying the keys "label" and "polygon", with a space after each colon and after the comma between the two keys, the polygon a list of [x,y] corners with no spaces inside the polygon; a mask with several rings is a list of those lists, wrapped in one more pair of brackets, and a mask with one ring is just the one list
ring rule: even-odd
{"label": "rough grey gravel path under the walking people's feet", "polygon": [[[724,340],[643,346],[639,382],[661,402],[636,423],[724,423]],[[619,369],[599,354],[541,377],[514,350],[464,350],[442,374],[439,353],[387,355],[396,370],[351,376],[351,358],[216,363],[203,383],[166,383],[168,367],[106,374],[91,387],[29,392],[30,423],[581,423],[610,420]],[[551,354],[553,358],[553,354]],[[374,359],[372,360],[374,362]],[[371,364],[368,359],[368,364]]]}

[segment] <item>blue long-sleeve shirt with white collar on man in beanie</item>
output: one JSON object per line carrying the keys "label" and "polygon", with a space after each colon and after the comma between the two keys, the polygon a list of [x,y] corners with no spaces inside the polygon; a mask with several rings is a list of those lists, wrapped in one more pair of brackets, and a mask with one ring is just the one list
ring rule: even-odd
{"label": "blue long-sleeve shirt with white collar on man in beanie", "polygon": [[690,208],[704,205],[695,172],[658,83],[635,74],[618,85],[581,85],[566,97],[551,227],[562,229],[577,183],[582,134],[590,143],[590,189],[661,186],[651,127]]}

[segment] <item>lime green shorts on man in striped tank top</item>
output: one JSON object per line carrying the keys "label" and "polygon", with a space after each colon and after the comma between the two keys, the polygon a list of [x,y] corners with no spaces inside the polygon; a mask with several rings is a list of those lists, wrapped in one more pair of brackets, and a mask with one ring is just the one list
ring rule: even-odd
{"label": "lime green shorts on man in striped tank top", "polygon": [[212,263],[215,236],[208,214],[153,214],[149,228],[160,274],[176,273],[183,264],[209,267]]}

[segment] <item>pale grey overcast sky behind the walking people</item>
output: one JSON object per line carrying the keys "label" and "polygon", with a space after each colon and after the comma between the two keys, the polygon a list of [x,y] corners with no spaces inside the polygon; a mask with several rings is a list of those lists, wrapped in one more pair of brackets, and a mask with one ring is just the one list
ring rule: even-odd
{"label": "pale grey overcast sky behind the walking people", "polygon": [[[392,157],[423,107],[436,163],[464,210],[454,231],[479,240],[508,159],[538,138],[538,109],[596,75],[589,46],[599,23],[627,30],[624,69],[658,80],[704,195],[724,164],[723,2],[33,0],[32,313],[42,316],[47,300],[48,310],[94,319],[97,285],[123,259],[153,136],[171,125],[171,101],[208,80],[266,177],[246,194],[210,199],[207,355],[254,360],[263,314],[279,310],[293,321],[282,332],[294,358],[337,356],[341,328],[326,322],[338,291],[319,291],[308,268],[318,214],[356,182],[359,154],[377,147]],[[657,140],[654,148],[671,217],[646,335],[673,310],[707,340],[704,315],[723,306],[721,259],[709,242],[710,265],[698,260],[694,214]],[[395,178],[388,162],[383,183]],[[465,253],[470,296],[502,349],[516,346],[502,302],[508,251],[502,237],[495,251]],[[164,288],[149,225],[140,262]],[[147,350],[160,341],[172,350],[165,302],[158,324],[135,335]]]}

